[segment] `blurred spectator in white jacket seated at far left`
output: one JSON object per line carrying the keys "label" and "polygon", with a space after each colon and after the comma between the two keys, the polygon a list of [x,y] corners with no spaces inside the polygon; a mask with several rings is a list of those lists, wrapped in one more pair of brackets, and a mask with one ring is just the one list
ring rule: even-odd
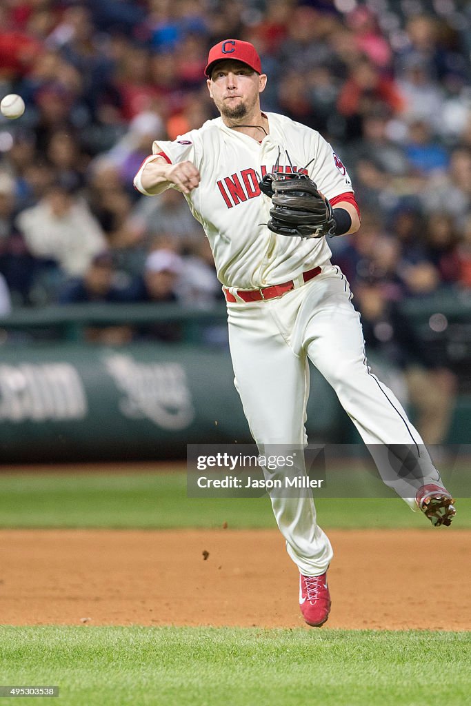
{"label": "blurred spectator in white jacket seated at far left", "polygon": [[59,280],[81,277],[93,256],[107,246],[87,203],[63,181],[56,181],[37,205],[20,213],[16,225],[35,258],[56,263]]}

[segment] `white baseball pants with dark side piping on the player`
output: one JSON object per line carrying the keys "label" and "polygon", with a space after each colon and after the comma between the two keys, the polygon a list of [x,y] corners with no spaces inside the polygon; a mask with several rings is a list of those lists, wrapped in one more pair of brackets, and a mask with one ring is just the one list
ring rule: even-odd
{"label": "white baseball pants with dark side piping on the player", "polygon": [[[350,299],[345,275],[325,265],[320,275],[278,299],[227,304],[234,382],[258,448],[305,445],[309,357],[365,443],[417,443],[424,449],[400,402],[366,366],[359,313]],[[428,462],[430,481],[437,482]],[[316,522],[311,493],[299,495],[270,496],[273,512],[301,573],[319,575],[333,551]],[[413,507],[412,498],[406,502]]]}

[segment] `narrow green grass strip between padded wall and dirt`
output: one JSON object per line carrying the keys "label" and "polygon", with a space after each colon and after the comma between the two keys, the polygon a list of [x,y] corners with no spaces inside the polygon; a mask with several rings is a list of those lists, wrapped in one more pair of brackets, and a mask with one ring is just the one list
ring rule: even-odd
{"label": "narrow green grass strip between padded wall and dirt", "polygon": [[[323,527],[422,527],[400,498],[318,498]],[[471,499],[453,527],[471,527]],[[0,527],[275,527],[268,498],[188,498],[182,473],[1,474]],[[450,531],[448,530],[448,531]]]}

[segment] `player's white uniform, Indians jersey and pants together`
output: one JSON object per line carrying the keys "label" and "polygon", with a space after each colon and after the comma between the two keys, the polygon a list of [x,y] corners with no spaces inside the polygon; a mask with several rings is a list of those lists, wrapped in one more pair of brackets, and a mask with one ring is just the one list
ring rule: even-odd
{"label": "player's white uniform, Indians jersey and pants together", "polygon": [[[192,162],[201,174],[198,189],[185,198],[210,240],[223,285],[268,287],[322,267],[305,284],[299,277],[302,284],[282,297],[227,303],[234,382],[251,433],[264,453],[271,448],[277,453],[280,444],[292,448],[306,443],[309,358],[332,385],[370,448],[393,444],[421,448],[425,482],[436,483],[439,473],[422,438],[393,393],[369,371],[359,315],[345,276],[330,264],[326,239],[277,235],[266,226],[271,199],[261,193],[258,181],[275,165],[282,172],[299,171],[312,160],[309,176],[333,205],[355,203],[345,167],[326,140],[310,128],[273,113],[268,121],[270,134],[261,143],[217,118],[174,142],[153,144],[154,155],[163,152],[172,163]],[[148,157],[143,167],[153,158]],[[143,167],[134,183],[146,193],[141,183]],[[305,473],[302,454],[297,456],[296,468]],[[402,477],[397,482],[385,480],[415,506],[401,488]],[[311,494],[270,493],[270,501],[299,571],[305,576],[323,575],[333,552],[317,525]]]}

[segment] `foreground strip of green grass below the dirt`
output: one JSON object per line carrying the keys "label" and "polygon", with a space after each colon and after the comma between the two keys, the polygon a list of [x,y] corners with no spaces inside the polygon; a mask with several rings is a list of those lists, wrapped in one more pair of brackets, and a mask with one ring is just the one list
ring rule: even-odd
{"label": "foreground strip of green grass below the dirt", "polygon": [[471,633],[0,628],[1,682],[59,686],[31,706],[464,706]]}

